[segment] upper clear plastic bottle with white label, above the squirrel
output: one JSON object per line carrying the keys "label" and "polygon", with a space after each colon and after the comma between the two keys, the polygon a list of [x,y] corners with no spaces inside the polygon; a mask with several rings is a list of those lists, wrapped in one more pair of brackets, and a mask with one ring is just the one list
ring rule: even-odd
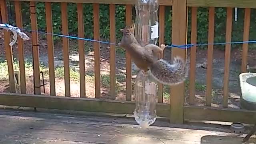
{"label": "upper clear plastic bottle with white label, above the squirrel", "polygon": [[157,43],[158,7],[158,0],[137,0],[135,37],[142,46]]}

